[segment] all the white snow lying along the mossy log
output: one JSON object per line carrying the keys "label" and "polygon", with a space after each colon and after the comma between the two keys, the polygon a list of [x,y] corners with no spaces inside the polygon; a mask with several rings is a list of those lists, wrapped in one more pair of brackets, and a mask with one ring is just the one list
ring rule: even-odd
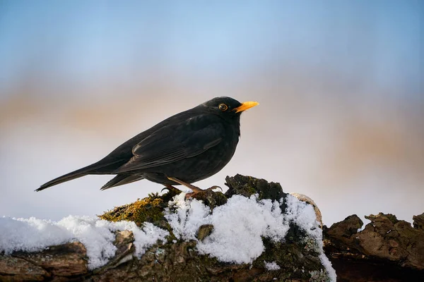
{"label": "all the white snow lying along the mossy log", "polygon": [[[313,207],[288,195],[287,209],[283,213],[281,201],[258,200],[257,195],[243,197],[234,195],[227,204],[211,211],[203,202],[185,200],[185,193],[174,197],[165,209],[165,218],[179,240],[196,240],[201,254],[216,257],[221,262],[251,264],[264,252],[263,238],[275,242],[283,241],[290,222],[302,228],[319,249],[319,259],[331,281],[336,281],[336,273],[331,262],[324,255],[322,230],[319,228]],[[210,235],[199,241],[196,233],[204,224],[212,224]],[[59,245],[73,240],[83,243],[87,249],[90,269],[105,265],[114,256],[116,247],[113,231],[129,230],[134,233],[137,256],[143,255],[146,248],[169,235],[152,223],[144,223],[143,228],[134,222],[109,222],[88,216],[68,216],[61,221],[41,219],[12,219],[0,217],[0,252],[9,254],[17,250],[34,252],[49,245]],[[266,269],[276,270],[276,262],[265,262]]]}

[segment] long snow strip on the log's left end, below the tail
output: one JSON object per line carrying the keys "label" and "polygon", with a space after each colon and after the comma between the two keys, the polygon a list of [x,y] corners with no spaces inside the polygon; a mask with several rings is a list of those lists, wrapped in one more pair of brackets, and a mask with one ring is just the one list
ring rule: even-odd
{"label": "long snow strip on the log's left end, below the tail", "polygon": [[117,247],[112,243],[112,231],[129,230],[134,233],[136,255],[141,257],[146,248],[157,240],[164,240],[169,234],[161,228],[145,223],[143,228],[134,222],[110,222],[88,216],[67,216],[61,221],[42,219],[13,219],[0,217],[0,252],[6,254],[23,250],[35,252],[50,245],[79,241],[86,246],[88,268],[95,269],[107,264]]}

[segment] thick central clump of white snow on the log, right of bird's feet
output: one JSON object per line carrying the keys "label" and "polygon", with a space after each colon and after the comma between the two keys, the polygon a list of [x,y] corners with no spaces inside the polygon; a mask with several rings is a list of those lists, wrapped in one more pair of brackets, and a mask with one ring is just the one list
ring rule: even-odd
{"label": "thick central clump of white snow on the log, right of bird's feet", "polygon": [[262,237],[283,240],[288,225],[278,202],[235,195],[209,216],[213,232],[199,242],[199,252],[221,262],[252,263],[264,252]]}

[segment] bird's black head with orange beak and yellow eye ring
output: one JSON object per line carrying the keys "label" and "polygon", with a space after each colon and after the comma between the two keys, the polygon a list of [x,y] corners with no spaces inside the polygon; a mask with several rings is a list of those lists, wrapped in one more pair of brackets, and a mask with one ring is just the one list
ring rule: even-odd
{"label": "bird's black head with orange beak and yellow eye ring", "polygon": [[230,97],[216,97],[201,104],[201,106],[206,106],[209,112],[219,114],[224,118],[238,118],[243,111],[257,105],[259,105],[258,102],[240,103]]}

